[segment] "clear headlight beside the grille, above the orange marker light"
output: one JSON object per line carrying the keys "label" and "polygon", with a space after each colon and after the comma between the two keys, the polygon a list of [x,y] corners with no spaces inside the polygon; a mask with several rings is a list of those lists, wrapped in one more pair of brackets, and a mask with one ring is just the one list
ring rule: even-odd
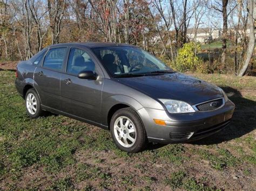
{"label": "clear headlight beside the grille, above the orange marker light", "polygon": [[178,100],[159,99],[164,103],[166,109],[172,114],[195,112],[190,104]]}

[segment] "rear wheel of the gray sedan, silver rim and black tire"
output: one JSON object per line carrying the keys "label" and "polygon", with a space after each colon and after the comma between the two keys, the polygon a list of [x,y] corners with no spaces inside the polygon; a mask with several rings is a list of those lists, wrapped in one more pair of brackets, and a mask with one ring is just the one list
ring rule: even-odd
{"label": "rear wheel of the gray sedan, silver rim and black tire", "polygon": [[37,118],[43,115],[41,102],[34,88],[29,89],[25,96],[26,113],[31,118]]}

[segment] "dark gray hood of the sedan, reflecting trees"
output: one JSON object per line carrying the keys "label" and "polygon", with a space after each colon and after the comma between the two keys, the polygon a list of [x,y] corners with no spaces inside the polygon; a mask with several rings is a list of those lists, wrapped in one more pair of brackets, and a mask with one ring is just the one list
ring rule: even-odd
{"label": "dark gray hood of the sedan, reflecting trees", "polygon": [[219,87],[181,73],[126,77],[115,80],[155,99],[173,99],[197,104],[223,97]]}

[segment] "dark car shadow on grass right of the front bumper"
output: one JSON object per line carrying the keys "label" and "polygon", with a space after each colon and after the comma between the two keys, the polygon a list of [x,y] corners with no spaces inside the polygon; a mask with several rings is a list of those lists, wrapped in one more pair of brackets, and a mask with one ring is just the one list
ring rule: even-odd
{"label": "dark car shadow on grass right of the front bumper", "polygon": [[231,87],[221,88],[226,92],[228,98],[235,104],[235,111],[230,125],[212,136],[191,142],[190,144],[219,144],[242,137],[255,130],[256,102],[243,97],[237,89]]}

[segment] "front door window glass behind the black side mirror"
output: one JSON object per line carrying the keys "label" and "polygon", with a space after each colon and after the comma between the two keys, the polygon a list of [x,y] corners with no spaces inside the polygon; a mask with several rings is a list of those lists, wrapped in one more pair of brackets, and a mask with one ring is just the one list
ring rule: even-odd
{"label": "front door window glass behind the black side mirror", "polygon": [[83,70],[91,70],[95,72],[95,63],[92,61],[90,55],[82,49],[71,48],[69,53],[67,72],[78,74]]}

